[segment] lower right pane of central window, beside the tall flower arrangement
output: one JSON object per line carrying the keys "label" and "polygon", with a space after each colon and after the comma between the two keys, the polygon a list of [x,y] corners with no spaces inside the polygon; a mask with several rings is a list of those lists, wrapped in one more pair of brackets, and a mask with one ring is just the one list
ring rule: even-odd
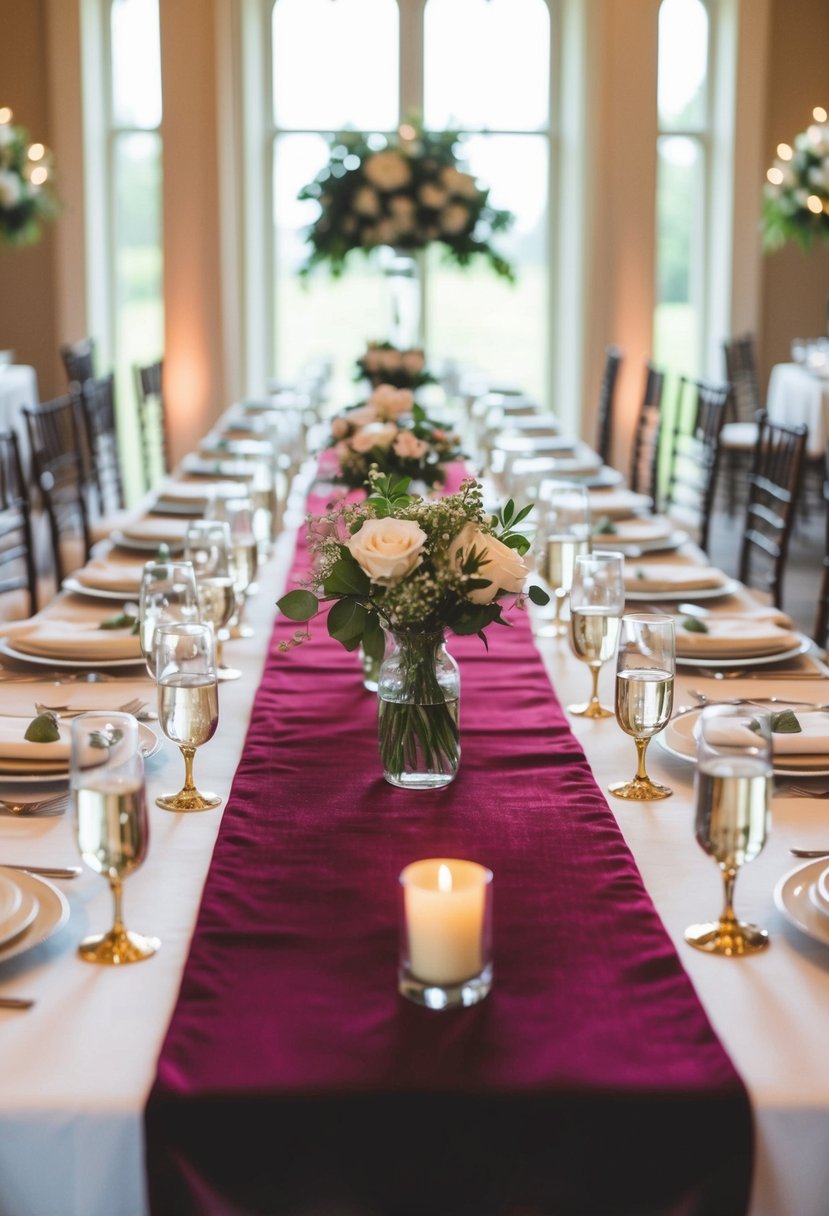
{"label": "lower right pane of central window, beside the tall flower arrangement", "polygon": [[547,176],[542,136],[474,136],[464,141],[469,169],[491,187],[496,207],[515,214],[495,243],[514,264],[517,282],[498,278],[483,259],[461,270],[430,250],[428,351],[480,367],[494,379],[520,379],[543,400],[548,340]]}

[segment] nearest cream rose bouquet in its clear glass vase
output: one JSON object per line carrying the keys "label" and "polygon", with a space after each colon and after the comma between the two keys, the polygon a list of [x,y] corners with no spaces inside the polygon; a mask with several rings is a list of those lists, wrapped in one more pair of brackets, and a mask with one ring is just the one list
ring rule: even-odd
{"label": "nearest cream rose bouquet in its clear glass vase", "polygon": [[[504,601],[521,606],[529,540],[518,531],[530,507],[507,502],[484,510],[481,486],[468,479],[456,494],[427,501],[405,478],[371,474],[365,502],[340,502],[309,519],[314,568],[308,586],[278,601],[282,613],[308,623],[332,603],[328,634],[348,651],[382,658],[378,680],[379,751],[387,781],[414,789],[449,784],[461,758],[459,680],[444,634],[476,634],[506,625]],[[540,587],[530,597],[547,601]],[[283,648],[308,637],[299,630]]]}

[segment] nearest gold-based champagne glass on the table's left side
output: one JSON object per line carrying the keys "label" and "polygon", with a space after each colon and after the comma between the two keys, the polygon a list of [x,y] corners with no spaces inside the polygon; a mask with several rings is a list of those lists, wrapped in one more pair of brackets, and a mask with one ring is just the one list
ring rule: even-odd
{"label": "nearest gold-based champagne glass on the table's left side", "polygon": [[147,856],[150,826],[139,724],[131,714],[79,714],[72,722],[72,800],[80,855],[109,882],[112,929],[85,938],[78,953],[88,963],[139,963],[160,942],[124,925],[122,884]]}

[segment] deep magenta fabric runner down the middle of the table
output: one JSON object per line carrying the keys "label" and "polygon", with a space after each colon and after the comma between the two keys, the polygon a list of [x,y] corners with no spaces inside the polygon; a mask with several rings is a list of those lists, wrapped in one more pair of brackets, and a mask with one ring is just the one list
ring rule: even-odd
{"label": "deep magenta fabric runner down the middle of the table", "polygon": [[[356,657],[277,623],[147,1105],[154,1214],[745,1210],[745,1090],[513,617],[450,638],[461,770],[428,793],[383,781]],[[474,1009],[397,996],[428,856],[495,873]]]}

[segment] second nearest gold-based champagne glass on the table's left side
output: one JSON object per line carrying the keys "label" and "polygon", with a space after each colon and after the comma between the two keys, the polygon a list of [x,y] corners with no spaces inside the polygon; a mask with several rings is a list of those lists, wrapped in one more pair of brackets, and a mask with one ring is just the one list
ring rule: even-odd
{"label": "second nearest gold-based champagne glass on the table's left side", "polygon": [[219,683],[209,625],[159,625],[154,638],[158,721],[185,759],[185,783],[177,794],[163,794],[165,811],[207,811],[221,804],[218,794],[193,784],[196,749],[212,739],[219,725]]}

